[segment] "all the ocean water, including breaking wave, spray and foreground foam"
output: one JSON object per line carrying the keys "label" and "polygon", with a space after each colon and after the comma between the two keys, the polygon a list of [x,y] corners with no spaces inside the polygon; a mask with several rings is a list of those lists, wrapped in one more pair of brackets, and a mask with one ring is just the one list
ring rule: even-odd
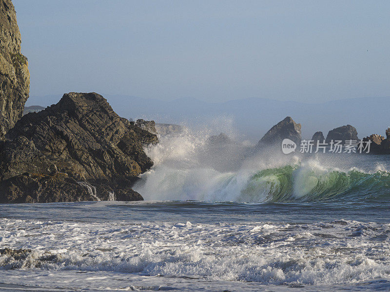
{"label": "all the ocean water, including breaking wave, spray and foreground foam", "polygon": [[3,204],[0,291],[389,291],[390,159],[163,137],[145,201]]}

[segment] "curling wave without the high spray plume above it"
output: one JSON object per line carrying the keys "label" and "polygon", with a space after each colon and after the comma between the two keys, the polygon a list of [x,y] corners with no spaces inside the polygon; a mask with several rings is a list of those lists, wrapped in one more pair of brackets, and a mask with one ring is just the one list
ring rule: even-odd
{"label": "curling wave without the high spray plume above it", "polygon": [[227,173],[161,165],[145,176],[137,190],[147,200],[373,201],[390,198],[390,176],[386,170],[368,173],[353,167],[342,171],[312,161]]}

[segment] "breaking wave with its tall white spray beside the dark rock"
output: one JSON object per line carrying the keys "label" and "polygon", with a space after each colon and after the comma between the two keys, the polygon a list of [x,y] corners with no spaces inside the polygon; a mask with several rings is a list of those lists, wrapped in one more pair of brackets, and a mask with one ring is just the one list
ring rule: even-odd
{"label": "breaking wave with its tall white spray beside the dark rock", "polygon": [[[203,137],[203,138],[202,138]],[[204,132],[162,137],[147,149],[155,167],[136,185],[146,200],[306,202],[390,197],[382,164],[359,156],[253,153],[247,144],[209,145]],[[370,164],[370,165],[368,165]]]}

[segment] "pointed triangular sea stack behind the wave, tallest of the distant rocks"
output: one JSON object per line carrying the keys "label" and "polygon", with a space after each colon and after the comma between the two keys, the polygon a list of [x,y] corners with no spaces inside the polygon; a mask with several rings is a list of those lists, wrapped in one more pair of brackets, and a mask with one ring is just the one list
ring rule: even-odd
{"label": "pointed triangular sea stack behind the wave, tallest of the distant rocks", "polygon": [[301,143],[301,124],[297,124],[291,117],[286,117],[283,121],[273,126],[257,144],[261,146],[280,146],[284,139],[294,141],[298,146]]}

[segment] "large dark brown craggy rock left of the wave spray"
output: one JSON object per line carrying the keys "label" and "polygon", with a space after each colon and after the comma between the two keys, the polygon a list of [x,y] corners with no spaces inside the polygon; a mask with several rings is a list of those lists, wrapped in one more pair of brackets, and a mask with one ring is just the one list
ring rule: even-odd
{"label": "large dark brown craggy rock left of the wave spray", "polygon": [[101,95],[64,94],[6,134],[0,202],[142,200],[131,186],[153,165],[143,146],[157,142]]}

